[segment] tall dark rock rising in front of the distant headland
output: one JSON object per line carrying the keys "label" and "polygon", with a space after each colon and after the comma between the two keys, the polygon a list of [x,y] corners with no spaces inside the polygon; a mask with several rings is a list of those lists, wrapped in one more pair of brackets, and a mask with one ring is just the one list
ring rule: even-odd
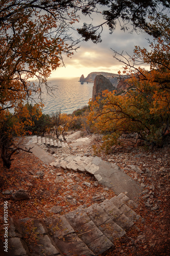
{"label": "tall dark rock rising in front of the distant headland", "polygon": [[112,83],[103,75],[96,75],[92,91],[92,100],[95,100],[99,95],[101,96],[102,92],[105,90],[112,92],[115,90],[115,87],[113,87]]}

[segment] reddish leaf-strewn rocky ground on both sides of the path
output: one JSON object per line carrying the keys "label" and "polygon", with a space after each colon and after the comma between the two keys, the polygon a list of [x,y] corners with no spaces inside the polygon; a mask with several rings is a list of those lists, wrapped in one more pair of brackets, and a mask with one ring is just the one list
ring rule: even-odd
{"label": "reddish leaf-strewn rocky ground on both sides of the path", "polygon": [[[98,146],[100,141],[92,140],[92,144]],[[91,145],[72,148],[71,154],[93,154]],[[103,256],[169,255],[169,151],[169,144],[166,144],[163,148],[154,148],[152,151],[143,147],[129,147],[119,148],[110,155],[101,154],[103,160],[116,163],[124,172],[149,188],[137,201],[139,206],[135,211],[145,219],[145,222],[141,223],[138,234],[134,230],[128,233],[134,241],[130,240],[127,243],[124,240],[117,240],[114,250],[112,248],[103,253]],[[143,173],[136,175],[129,169],[130,164],[140,167]],[[0,160],[0,168],[1,217],[4,216],[4,201],[8,201],[9,204],[9,217],[44,218],[54,214],[50,211],[53,206],[58,206],[60,214],[65,214],[83,204],[93,204],[94,196],[103,195],[106,199],[114,196],[110,188],[100,185],[90,175],[51,167],[31,153],[20,151],[14,155],[10,169],[5,168]],[[43,177],[37,176],[40,170]],[[62,178],[56,180],[56,177]],[[28,200],[13,199],[12,193],[19,188],[28,190]],[[4,194],[5,191],[8,193],[7,190],[11,193]],[[144,190],[147,189],[143,187]],[[149,200],[144,198],[148,194]],[[2,218],[1,221],[3,223]]]}

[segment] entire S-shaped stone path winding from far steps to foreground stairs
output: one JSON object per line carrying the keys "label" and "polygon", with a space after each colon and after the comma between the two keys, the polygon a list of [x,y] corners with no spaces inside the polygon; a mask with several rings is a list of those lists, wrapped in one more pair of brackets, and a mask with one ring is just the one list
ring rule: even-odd
{"label": "entire S-shaped stone path winding from far steps to foreground stairs", "polygon": [[9,244],[12,255],[99,255],[114,248],[114,239],[129,239],[126,231],[135,228],[136,221],[141,221],[131,209],[137,206],[133,200],[141,193],[140,185],[116,164],[93,156],[63,153],[58,157],[40,148],[42,143],[51,147],[69,147],[67,143],[36,136],[29,138],[26,146],[33,147],[33,154],[51,166],[94,176],[118,196],[88,208],[79,207],[63,216],[54,215],[43,220],[11,219]]}

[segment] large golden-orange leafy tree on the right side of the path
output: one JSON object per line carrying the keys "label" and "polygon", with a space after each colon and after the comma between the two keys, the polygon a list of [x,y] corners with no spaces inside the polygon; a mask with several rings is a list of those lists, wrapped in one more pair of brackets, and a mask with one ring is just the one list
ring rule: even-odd
{"label": "large golden-orange leafy tree on the right side of the path", "polygon": [[[150,42],[150,51],[136,47],[130,60],[115,53],[126,66],[129,90],[124,95],[104,92],[104,99],[90,102],[95,127],[105,136],[107,147],[122,142],[123,133],[137,133],[138,139],[162,146],[169,135],[170,116],[170,19],[158,16],[152,28],[161,27],[162,37]],[[120,58],[122,57],[122,59]],[[150,71],[136,67],[136,61],[149,63]]]}

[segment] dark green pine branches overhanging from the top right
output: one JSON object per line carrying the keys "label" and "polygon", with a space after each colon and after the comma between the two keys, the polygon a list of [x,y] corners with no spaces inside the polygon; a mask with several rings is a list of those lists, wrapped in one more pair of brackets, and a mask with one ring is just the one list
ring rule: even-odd
{"label": "dark green pine branches overhanging from the top right", "polygon": [[[117,23],[122,30],[129,30],[131,25],[133,30],[141,30],[158,37],[161,35],[161,30],[157,27],[156,30],[150,29],[148,17],[161,14],[162,11],[169,11],[169,1],[166,0],[114,0],[114,1],[91,1],[95,6],[102,6],[103,22],[97,26],[84,23],[82,28],[78,29],[78,32],[85,38],[85,40],[93,40],[94,42],[101,41],[101,33],[104,25],[109,27],[110,33],[112,33]],[[88,9],[87,9],[88,10]],[[99,12],[99,10],[98,10]]]}

